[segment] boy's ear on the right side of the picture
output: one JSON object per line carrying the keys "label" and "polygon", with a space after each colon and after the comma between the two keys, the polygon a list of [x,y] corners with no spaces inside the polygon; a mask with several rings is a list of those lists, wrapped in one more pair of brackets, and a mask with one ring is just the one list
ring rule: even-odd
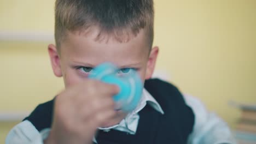
{"label": "boy's ear on the right side of the picture", "polygon": [[155,69],[156,58],[158,57],[158,51],[159,51],[158,46],[155,46],[152,48],[152,50],[149,53],[146,76],[145,76],[146,80],[150,79],[153,75],[153,72]]}

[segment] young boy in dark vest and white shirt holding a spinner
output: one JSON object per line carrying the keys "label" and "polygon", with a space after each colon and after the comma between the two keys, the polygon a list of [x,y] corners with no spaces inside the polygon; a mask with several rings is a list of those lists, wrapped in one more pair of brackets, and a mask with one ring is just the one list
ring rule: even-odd
{"label": "young boy in dark vest and white shirt holding a spinner", "polygon": [[[48,51],[65,90],[16,125],[6,143],[234,143],[199,101],[150,80],[159,51],[153,21],[152,0],[57,0],[56,46]],[[103,62],[146,80],[132,112],[114,110],[117,86],[87,78]]]}

